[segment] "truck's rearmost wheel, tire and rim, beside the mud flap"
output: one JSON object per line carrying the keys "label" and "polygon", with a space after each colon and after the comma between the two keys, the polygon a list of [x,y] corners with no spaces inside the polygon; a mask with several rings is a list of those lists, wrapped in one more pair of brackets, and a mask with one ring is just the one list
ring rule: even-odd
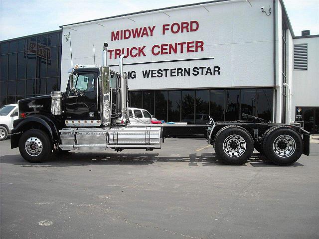
{"label": "truck's rearmost wheel, tire and rim, beside the mud flap", "polygon": [[263,141],[266,157],[277,165],[291,165],[303,153],[301,135],[291,127],[273,127]]}

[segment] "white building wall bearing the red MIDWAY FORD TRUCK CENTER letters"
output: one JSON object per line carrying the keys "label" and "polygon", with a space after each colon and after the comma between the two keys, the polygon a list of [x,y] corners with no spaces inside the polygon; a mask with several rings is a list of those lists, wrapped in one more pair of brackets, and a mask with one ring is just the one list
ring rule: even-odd
{"label": "white building wall bearing the red MIDWAY FORD TRUCK CENTER letters", "polygon": [[[153,62],[124,66],[126,72],[135,71],[137,74],[136,79],[129,79],[131,90],[273,87],[273,16],[266,16],[260,10],[261,6],[265,6],[266,9],[268,6],[272,7],[273,1],[251,0],[250,3],[245,0],[208,3],[165,10],[169,16],[162,11],[157,11],[74,24],[63,27],[63,34],[70,33],[71,35],[73,67],[75,64],[94,65],[93,45],[95,46],[95,62],[98,66],[101,65],[101,47],[104,42],[109,43],[108,49],[146,46],[146,56],[124,59],[124,64]],[[176,34],[167,31],[165,35],[162,34],[163,24],[193,20],[199,23],[197,31]],[[156,28],[153,36],[111,41],[112,31],[154,25]],[[281,27],[281,24],[279,26]],[[281,32],[281,28],[278,31]],[[204,51],[157,56],[151,52],[151,48],[155,44],[186,41],[203,41]],[[279,44],[278,47],[281,47],[280,42],[277,44]],[[67,72],[71,68],[70,56],[70,41],[66,42],[63,39],[62,91],[66,88]],[[191,60],[210,57],[214,57],[214,59]],[[190,61],[154,63],[168,60]],[[117,59],[108,59],[108,65],[116,64],[118,64]],[[143,70],[200,66],[210,66],[211,69],[214,66],[219,66],[220,75],[161,78],[143,78],[142,75]],[[112,67],[112,69],[118,70],[118,67]]]}

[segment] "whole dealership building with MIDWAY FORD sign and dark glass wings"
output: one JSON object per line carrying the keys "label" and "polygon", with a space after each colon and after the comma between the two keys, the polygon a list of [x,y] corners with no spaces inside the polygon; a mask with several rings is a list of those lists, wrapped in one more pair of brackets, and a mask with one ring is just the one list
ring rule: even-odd
{"label": "whole dealership building with MIDWAY FORD sign and dark glass wings", "polygon": [[157,119],[198,123],[245,113],[319,131],[319,35],[295,36],[282,1],[215,0],[60,28],[1,41],[1,105],[65,91],[70,69],[101,65],[107,42],[111,69],[125,55],[130,106]]}

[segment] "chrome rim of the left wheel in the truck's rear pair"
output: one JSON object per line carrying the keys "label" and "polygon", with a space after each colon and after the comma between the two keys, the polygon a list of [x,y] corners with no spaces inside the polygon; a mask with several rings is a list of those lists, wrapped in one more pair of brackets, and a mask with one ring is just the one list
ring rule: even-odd
{"label": "chrome rim of the left wheel in the truck's rear pair", "polygon": [[224,140],[224,152],[230,157],[239,157],[246,150],[246,141],[242,136],[233,134]]}

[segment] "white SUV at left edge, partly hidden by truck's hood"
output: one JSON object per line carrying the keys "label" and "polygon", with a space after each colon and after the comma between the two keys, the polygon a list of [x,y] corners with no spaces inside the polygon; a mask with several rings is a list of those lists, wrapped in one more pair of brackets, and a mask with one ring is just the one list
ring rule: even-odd
{"label": "white SUV at left edge, partly hidden by truck's hood", "polygon": [[0,140],[6,139],[11,133],[13,120],[18,118],[18,104],[6,105],[0,109]]}

